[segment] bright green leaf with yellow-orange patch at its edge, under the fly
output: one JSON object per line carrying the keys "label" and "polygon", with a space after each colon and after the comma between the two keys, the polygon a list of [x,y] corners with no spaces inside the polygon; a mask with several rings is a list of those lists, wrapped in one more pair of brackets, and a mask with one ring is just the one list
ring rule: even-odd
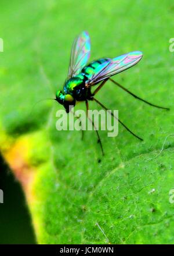
{"label": "bright green leaf with yellow-orange patch at its edge, under the fly", "polygon": [[[173,243],[173,2],[13,1],[1,3],[0,149],[21,182],[38,243]],[[57,131],[53,101],[81,31],[91,60],[140,50],[142,61],[97,94],[140,137]],[[81,107],[81,106],[79,106]],[[90,108],[96,108],[92,102]],[[161,150],[163,149],[163,150]],[[99,162],[99,159],[101,162]]]}

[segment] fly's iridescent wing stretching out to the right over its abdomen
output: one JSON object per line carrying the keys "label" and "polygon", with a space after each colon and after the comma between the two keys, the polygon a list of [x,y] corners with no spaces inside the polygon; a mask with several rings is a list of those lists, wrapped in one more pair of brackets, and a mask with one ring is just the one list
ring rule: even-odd
{"label": "fly's iridescent wing stretching out to the right over its abdomen", "polygon": [[137,62],[139,62],[140,59],[142,59],[142,56],[142,52],[135,51],[118,56],[114,59],[107,59],[106,62],[97,67],[95,73],[90,78],[86,86],[92,86],[96,83],[99,83],[99,81],[114,76],[114,74],[120,73],[125,69],[129,69],[129,67],[132,67]]}

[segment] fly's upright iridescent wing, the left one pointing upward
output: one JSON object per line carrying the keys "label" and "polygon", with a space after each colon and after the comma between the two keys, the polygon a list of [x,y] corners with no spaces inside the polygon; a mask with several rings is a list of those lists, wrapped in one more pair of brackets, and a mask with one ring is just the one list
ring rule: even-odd
{"label": "fly's upright iridescent wing, the left one pointing upward", "polygon": [[72,49],[68,79],[78,74],[86,65],[90,56],[90,38],[86,31],[83,31],[75,38]]}

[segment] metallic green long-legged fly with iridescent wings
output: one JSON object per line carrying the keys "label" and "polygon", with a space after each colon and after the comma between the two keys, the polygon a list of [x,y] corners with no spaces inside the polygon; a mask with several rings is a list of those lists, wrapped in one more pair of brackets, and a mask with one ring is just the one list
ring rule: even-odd
{"label": "metallic green long-legged fly with iridescent wings", "polygon": [[[102,106],[102,108],[108,110],[106,106],[104,106],[95,98],[96,93],[104,86],[108,79],[113,81],[114,84],[121,87],[133,97],[146,102],[148,105],[155,106],[157,108],[168,109],[163,108],[162,106],[151,104],[150,102],[145,101],[140,97],[137,97],[135,94],[131,93],[131,91],[128,91],[126,88],[121,86],[121,84],[110,78],[111,76],[114,76],[114,74],[120,73],[126,69],[129,69],[129,67],[136,65],[136,63],[138,63],[140,59],[142,59],[142,52],[128,52],[128,54],[124,54],[113,59],[101,58],[86,65],[89,56],[90,38],[88,32],[84,31],[75,39],[73,43],[73,47],[71,49],[68,77],[66,83],[64,84],[63,91],[56,92],[56,101],[64,106],[67,113],[69,113],[71,108],[75,106],[75,104],[77,104],[77,102],[79,101],[85,101],[87,116],[88,101],[96,101],[97,104]],[[98,87],[92,93],[91,87],[96,86],[97,84]],[[113,114],[111,113],[111,115]],[[115,118],[114,115],[113,117]],[[90,122],[92,122],[93,127],[95,127],[93,121],[90,120]],[[124,123],[121,122],[121,120],[118,119],[118,122],[121,123],[121,125],[124,126],[126,130],[133,134],[133,136],[139,138],[139,140],[143,140],[135,133],[133,133],[128,127],[126,127]],[[98,142],[100,143],[100,147],[102,148],[103,153],[102,143],[97,130],[96,133]]]}

